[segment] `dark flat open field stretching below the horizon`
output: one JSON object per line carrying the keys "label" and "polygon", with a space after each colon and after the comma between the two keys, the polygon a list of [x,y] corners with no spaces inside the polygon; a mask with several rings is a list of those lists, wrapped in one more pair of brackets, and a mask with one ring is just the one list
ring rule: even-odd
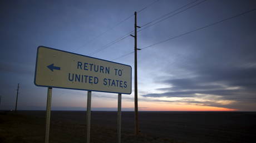
{"label": "dark flat open field stretching below the horizon", "polygon": [[[45,111],[0,114],[0,142],[44,142]],[[85,111],[52,111],[50,142],[85,142]],[[91,142],[116,142],[114,111],[92,111]],[[122,112],[122,142],[254,142],[255,112]]]}

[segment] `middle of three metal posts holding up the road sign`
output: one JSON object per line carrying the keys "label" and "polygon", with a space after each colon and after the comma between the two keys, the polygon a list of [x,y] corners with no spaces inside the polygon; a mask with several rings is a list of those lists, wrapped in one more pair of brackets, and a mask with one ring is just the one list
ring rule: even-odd
{"label": "middle of three metal posts holding up the road sign", "polygon": [[86,142],[90,142],[90,127],[91,127],[91,94],[92,91],[87,91],[87,111],[86,111]]}

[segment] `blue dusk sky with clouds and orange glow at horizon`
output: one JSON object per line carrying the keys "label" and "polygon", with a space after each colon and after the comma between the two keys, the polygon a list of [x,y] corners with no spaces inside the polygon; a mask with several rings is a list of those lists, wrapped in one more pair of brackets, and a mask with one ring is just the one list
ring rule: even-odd
{"label": "blue dusk sky with clouds and orange glow at horizon", "polygon": [[[132,67],[137,11],[139,111],[256,111],[256,2],[233,0],[0,1],[1,110],[46,110],[34,84],[39,45]],[[117,42],[116,42],[117,40]],[[52,110],[86,110],[87,91],[53,88]],[[92,110],[117,94],[92,92]]]}

